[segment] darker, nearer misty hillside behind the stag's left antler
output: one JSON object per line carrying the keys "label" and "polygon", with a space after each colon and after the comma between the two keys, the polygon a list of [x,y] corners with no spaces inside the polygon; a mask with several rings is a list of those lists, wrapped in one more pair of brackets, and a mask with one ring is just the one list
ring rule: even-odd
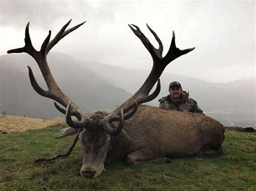
{"label": "darker, nearer misty hillside behind the stag's left antler", "polygon": [[[0,112],[37,118],[62,115],[54,107],[53,100],[38,95],[32,89],[27,65],[31,66],[41,87],[47,88],[37,63],[29,55],[3,55],[0,63]],[[131,96],[100,74],[78,65],[70,56],[50,53],[48,63],[59,87],[84,112],[112,110]]]}

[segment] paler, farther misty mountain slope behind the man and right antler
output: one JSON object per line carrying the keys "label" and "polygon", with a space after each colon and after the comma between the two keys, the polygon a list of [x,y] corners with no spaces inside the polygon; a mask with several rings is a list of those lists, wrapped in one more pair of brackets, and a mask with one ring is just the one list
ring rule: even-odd
{"label": "paler, farther misty mountain slope behind the man and right antler", "polygon": [[[97,74],[111,79],[117,87],[134,94],[145,81],[150,70],[124,69],[99,62],[78,61],[80,65],[98,71]],[[151,64],[151,63],[149,63]],[[171,64],[167,67],[171,67]],[[201,109],[224,125],[230,126],[234,121],[255,121],[255,79],[231,83],[211,83],[183,75],[163,73],[160,77],[161,91],[159,96],[147,103],[158,105],[158,99],[169,94],[171,81],[179,81],[183,90],[190,92]],[[242,90],[246,90],[246,93]],[[239,91],[239,92],[238,92]]]}

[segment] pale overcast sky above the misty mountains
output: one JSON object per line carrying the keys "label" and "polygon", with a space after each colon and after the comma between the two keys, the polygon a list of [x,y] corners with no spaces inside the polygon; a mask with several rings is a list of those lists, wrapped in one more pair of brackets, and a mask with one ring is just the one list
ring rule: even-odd
{"label": "pale overcast sky above the misty mountains", "polygon": [[[81,60],[130,69],[151,69],[152,59],[127,24],[136,24],[157,46],[146,23],[169,49],[172,30],[180,49],[194,51],[174,60],[165,72],[209,82],[255,77],[255,1],[5,1],[1,2],[1,55],[24,45],[24,30],[39,49],[48,31],[52,37],[86,23],[53,49]],[[50,63],[49,63],[50,64]],[[24,66],[25,67],[25,66]]]}

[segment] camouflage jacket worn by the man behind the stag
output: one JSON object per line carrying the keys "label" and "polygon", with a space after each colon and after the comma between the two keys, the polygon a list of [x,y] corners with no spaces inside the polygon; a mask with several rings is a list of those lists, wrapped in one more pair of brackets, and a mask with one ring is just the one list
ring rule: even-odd
{"label": "camouflage jacket worn by the man behind the stag", "polygon": [[197,102],[192,98],[188,97],[186,91],[182,91],[180,102],[173,102],[170,95],[160,98],[158,100],[159,108],[165,110],[175,110],[175,111],[188,111],[198,114],[203,114],[203,111],[198,107]]}

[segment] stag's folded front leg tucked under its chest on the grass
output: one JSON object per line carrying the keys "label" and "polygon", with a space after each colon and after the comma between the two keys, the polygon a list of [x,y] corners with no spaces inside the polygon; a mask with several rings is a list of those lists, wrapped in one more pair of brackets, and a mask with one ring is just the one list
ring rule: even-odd
{"label": "stag's folded front leg tucked under its chest on the grass", "polygon": [[170,163],[171,160],[166,157],[158,157],[153,151],[142,148],[134,151],[127,156],[127,163],[129,165],[140,165],[140,164],[163,164]]}

